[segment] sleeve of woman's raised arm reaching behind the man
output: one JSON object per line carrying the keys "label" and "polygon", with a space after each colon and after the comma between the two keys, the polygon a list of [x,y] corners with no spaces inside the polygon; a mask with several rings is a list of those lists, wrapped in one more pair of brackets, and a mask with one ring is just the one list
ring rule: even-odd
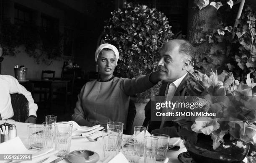
{"label": "sleeve of woman's raised arm reaching behind the man", "polygon": [[152,83],[149,81],[149,76],[148,75],[141,75],[138,76],[136,79],[128,79],[125,78],[123,81],[120,83],[121,89],[125,92],[126,95],[130,96],[136,93],[141,93],[146,91],[147,89],[153,87],[157,83]]}

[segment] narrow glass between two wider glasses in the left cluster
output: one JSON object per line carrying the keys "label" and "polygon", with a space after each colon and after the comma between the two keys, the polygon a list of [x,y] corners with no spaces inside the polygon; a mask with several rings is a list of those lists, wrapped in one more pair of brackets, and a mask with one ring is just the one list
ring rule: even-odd
{"label": "narrow glass between two wider glasses in the left cluster", "polygon": [[54,148],[54,124],[44,122],[43,126],[43,147]]}

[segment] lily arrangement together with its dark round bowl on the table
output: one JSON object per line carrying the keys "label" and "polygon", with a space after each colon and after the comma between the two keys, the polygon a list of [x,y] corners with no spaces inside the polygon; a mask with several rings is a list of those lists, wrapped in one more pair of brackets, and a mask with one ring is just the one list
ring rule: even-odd
{"label": "lily arrangement together with its dark round bowl on the table", "polygon": [[189,72],[188,100],[203,103],[197,112],[216,115],[177,117],[185,147],[197,162],[240,163],[249,143],[256,143],[256,84],[250,78],[246,84],[239,83],[225,71],[219,76],[211,72],[210,77],[195,72]]}

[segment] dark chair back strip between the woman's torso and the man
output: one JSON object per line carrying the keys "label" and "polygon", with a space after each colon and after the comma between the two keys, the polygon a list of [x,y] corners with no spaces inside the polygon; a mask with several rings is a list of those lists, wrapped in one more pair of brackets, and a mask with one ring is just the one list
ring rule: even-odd
{"label": "dark chair back strip between the woman's torso and the man", "polygon": [[126,121],[126,130],[123,131],[123,134],[131,135],[131,130],[133,128],[133,121],[136,116],[136,107],[132,100],[130,100],[129,108],[128,108],[128,115]]}

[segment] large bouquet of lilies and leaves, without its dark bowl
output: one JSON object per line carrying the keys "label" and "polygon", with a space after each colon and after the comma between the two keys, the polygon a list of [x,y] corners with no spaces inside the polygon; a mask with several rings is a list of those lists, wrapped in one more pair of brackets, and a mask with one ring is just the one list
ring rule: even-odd
{"label": "large bouquet of lilies and leaves, without its dark bowl", "polygon": [[[210,77],[199,71],[190,71],[187,92],[194,102],[202,102],[200,112],[215,112],[214,117],[178,117],[179,134],[191,143],[197,142],[198,134],[212,138],[212,148],[225,143],[223,137],[256,144],[256,84],[250,74],[246,84],[239,83],[232,73],[223,71]],[[187,108],[189,110],[189,108]]]}

